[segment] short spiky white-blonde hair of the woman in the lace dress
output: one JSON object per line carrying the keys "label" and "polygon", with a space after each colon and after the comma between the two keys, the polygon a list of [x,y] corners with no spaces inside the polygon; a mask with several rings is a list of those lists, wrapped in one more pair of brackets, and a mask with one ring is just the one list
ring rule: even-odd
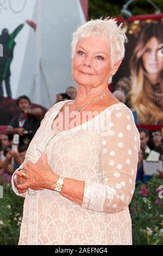
{"label": "short spiky white-blonde hair of the woman in the lace dress", "polygon": [[108,40],[111,52],[112,67],[118,60],[124,57],[124,43],[128,41],[126,35],[122,31],[122,23],[118,26],[116,19],[107,17],[103,20],[90,20],[84,25],[78,27],[77,31],[73,32],[71,43],[71,56],[73,58],[78,41],[82,38],[89,38],[93,35],[99,35],[101,38]]}

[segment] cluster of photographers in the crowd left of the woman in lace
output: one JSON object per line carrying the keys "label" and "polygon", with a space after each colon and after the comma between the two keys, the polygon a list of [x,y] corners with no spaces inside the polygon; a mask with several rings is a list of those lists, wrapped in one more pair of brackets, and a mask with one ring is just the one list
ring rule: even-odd
{"label": "cluster of photographers in the crowd left of the woman in lace", "polygon": [[16,103],[20,114],[13,117],[5,132],[0,134],[0,173],[7,180],[24,161],[28,145],[40,126],[42,114],[41,108],[31,108],[26,95],[18,97]]}

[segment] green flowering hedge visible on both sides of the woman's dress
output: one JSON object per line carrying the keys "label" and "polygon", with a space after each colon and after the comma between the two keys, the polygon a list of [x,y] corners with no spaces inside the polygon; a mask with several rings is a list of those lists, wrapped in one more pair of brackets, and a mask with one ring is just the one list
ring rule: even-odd
{"label": "green flowering hedge visible on both sides of the woman's dress", "polygon": [[[163,244],[163,205],[156,204],[156,200],[163,204],[156,192],[160,185],[163,185],[163,179],[155,176],[147,182],[144,196],[140,194],[141,184],[135,189],[130,204],[134,245]],[[0,245],[17,245],[24,198],[15,195],[11,184],[3,184],[3,188],[4,198],[0,199]]]}

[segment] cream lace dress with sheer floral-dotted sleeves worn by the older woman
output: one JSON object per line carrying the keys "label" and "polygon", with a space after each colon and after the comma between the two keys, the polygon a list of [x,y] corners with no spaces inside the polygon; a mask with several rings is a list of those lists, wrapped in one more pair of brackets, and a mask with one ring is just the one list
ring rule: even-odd
{"label": "cream lace dress with sheer floral-dotted sleeves worn by the older woman", "polygon": [[85,181],[83,205],[46,189],[19,194],[12,178],[15,193],[25,197],[19,245],[131,245],[128,205],[140,149],[133,114],[117,103],[85,124],[57,132],[52,123],[67,101],[46,113],[24,162],[35,163],[46,148],[55,173]]}

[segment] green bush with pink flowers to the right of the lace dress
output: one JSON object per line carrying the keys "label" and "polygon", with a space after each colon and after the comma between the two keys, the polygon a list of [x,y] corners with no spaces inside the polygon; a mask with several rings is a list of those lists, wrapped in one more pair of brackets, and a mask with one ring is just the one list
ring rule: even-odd
{"label": "green bush with pink flowers to the right of the lace dress", "polygon": [[163,245],[163,199],[156,192],[160,185],[163,179],[154,176],[147,182],[147,197],[140,195],[141,184],[135,189],[130,204],[134,245]]}

